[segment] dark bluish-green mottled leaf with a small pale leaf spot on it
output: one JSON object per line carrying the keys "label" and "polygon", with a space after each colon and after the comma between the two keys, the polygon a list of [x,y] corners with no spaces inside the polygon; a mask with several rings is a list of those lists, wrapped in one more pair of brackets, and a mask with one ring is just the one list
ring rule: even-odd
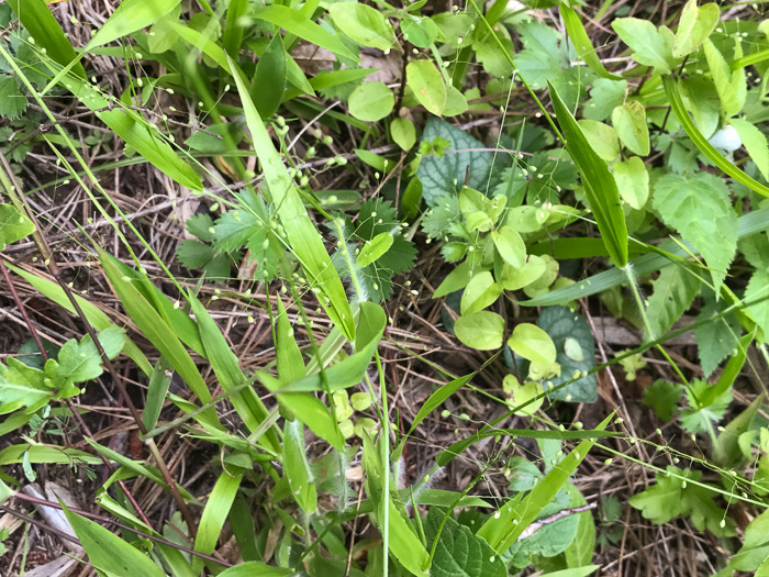
{"label": "dark bluish-green mottled leaf with a small pale leaf spot on it", "polygon": [[[590,371],[595,366],[595,341],[588,321],[566,307],[547,307],[537,325],[553,340],[560,376],[547,379],[554,387],[575,377],[577,371]],[[595,375],[586,375],[566,387],[548,391],[550,400],[594,402],[598,399]]]}

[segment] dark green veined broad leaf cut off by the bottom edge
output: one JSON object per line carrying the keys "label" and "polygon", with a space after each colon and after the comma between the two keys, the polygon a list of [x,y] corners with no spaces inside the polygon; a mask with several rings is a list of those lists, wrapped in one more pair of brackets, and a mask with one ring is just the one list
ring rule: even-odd
{"label": "dark green veined broad leaf cut off by the bottom edge", "polygon": [[506,577],[502,557],[483,539],[475,535],[469,526],[459,524],[453,514],[442,526],[444,515],[438,507],[431,507],[427,513],[427,545],[438,540],[430,567],[431,577]]}

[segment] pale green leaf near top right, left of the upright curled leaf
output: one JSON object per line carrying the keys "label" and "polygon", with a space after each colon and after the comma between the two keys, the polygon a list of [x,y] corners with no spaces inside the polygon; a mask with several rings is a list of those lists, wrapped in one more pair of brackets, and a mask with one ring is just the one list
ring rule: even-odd
{"label": "pale green leaf near top right, left of the upright curled leaf", "polygon": [[612,22],[612,27],[633,49],[633,59],[638,64],[654,66],[656,73],[669,73],[676,64],[675,36],[670,29],[658,29],[648,20],[637,18],[618,18]]}

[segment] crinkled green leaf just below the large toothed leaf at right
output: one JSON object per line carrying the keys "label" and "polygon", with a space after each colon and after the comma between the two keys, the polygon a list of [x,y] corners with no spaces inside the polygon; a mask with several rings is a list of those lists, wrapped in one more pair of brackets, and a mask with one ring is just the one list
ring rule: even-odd
{"label": "crinkled green leaf just below the large toothed leaf at right", "polygon": [[653,285],[654,292],[646,306],[651,329],[651,334],[644,334],[647,341],[662,336],[689,310],[702,281],[686,266],[669,266],[662,269]]}

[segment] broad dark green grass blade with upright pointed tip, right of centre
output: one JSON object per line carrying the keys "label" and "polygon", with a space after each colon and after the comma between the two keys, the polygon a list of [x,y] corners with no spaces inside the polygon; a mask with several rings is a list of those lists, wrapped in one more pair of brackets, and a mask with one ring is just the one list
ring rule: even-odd
{"label": "broad dark green grass blade with upright pointed tip, right of centre", "polygon": [[549,82],[547,86],[558,124],[566,138],[566,149],[582,176],[584,192],[595,217],[598,230],[601,232],[610,258],[616,267],[622,268],[627,264],[627,226],[614,177],[609,171],[606,162],[590,146],[555,87]]}

